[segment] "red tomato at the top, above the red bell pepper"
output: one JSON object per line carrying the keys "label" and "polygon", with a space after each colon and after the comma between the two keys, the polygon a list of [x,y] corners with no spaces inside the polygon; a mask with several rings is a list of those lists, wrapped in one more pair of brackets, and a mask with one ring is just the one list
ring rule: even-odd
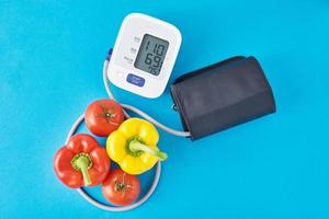
{"label": "red tomato at the top, above the red bell pepper", "polygon": [[113,100],[94,101],[86,110],[88,129],[101,137],[107,137],[116,130],[124,120],[124,113],[118,103]]}

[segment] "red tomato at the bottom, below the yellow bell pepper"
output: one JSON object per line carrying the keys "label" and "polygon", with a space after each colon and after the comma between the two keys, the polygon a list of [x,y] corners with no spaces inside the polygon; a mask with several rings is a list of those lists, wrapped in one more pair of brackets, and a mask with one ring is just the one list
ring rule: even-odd
{"label": "red tomato at the bottom, below the yellow bell pepper", "polygon": [[115,169],[103,181],[102,193],[113,205],[129,205],[137,199],[140,193],[139,180],[121,169]]}

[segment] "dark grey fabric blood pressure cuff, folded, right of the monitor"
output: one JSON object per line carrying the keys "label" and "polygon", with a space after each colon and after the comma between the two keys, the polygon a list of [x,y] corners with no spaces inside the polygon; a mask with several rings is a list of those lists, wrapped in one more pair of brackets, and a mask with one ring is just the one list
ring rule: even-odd
{"label": "dark grey fabric blood pressure cuff, folded, right of the monitor", "polygon": [[275,112],[272,89],[254,57],[232,57],[183,74],[170,92],[192,140]]}

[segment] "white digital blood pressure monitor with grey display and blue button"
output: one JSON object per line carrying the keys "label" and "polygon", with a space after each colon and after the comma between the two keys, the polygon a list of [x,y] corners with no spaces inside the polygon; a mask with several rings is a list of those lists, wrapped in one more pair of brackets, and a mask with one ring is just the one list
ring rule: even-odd
{"label": "white digital blood pressure monitor with grey display and blue button", "polygon": [[172,24],[140,13],[128,14],[109,64],[110,81],[145,97],[160,96],[181,42],[181,33]]}

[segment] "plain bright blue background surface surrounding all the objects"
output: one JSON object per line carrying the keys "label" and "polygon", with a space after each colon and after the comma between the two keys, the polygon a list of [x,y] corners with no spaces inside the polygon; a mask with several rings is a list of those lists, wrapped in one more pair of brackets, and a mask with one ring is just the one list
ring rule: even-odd
{"label": "plain bright blue background surface surrounding all the objects", "polygon": [[[65,187],[52,161],[86,106],[106,96],[104,56],[131,12],[181,31],[170,82],[253,55],[277,113],[195,142],[161,131],[170,158],[156,193],[114,214]],[[0,0],[1,218],[329,218],[328,50],[327,0]],[[156,100],[114,92],[181,129],[168,90]],[[145,189],[151,176],[143,176]],[[99,191],[91,193],[104,200]]]}

